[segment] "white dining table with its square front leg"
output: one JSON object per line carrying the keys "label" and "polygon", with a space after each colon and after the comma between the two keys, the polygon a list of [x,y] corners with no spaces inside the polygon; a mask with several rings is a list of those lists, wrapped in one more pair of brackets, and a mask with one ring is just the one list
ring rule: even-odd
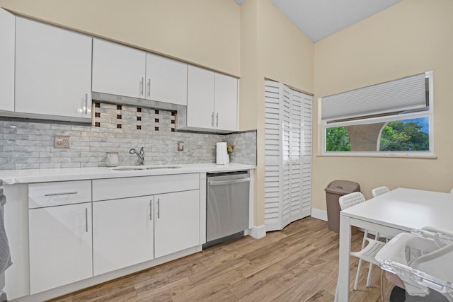
{"label": "white dining table with its square front leg", "polygon": [[398,188],[340,211],[338,301],[349,301],[351,226],[395,236],[424,226],[453,231],[453,194]]}

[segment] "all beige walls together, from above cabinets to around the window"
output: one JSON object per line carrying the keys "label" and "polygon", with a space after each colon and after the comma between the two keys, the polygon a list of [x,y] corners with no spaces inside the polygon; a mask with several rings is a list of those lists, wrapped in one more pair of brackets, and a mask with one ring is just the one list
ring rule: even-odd
{"label": "all beige walls together, from above cabinets to around the window", "polygon": [[[241,76],[241,130],[258,129],[255,225],[264,211],[264,79],[316,98],[434,71],[437,158],[316,156],[313,207],[324,210],[331,180],[373,187],[453,187],[453,1],[405,0],[313,44],[268,0],[0,0],[0,6],[50,23]],[[316,119],[315,119],[316,122]],[[316,125],[315,125],[316,126]]]}

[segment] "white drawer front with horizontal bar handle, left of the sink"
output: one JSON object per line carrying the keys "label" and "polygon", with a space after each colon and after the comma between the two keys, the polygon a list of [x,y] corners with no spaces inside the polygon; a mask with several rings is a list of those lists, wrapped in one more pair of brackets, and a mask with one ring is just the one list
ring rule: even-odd
{"label": "white drawer front with horizontal bar handle, left of the sink", "polygon": [[91,202],[91,180],[28,185],[28,209]]}

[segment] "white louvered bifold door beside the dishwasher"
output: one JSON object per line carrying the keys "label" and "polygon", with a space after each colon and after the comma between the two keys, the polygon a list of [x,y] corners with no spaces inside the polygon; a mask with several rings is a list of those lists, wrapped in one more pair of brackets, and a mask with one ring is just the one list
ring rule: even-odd
{"label": "white louvered bifold door beside the dishwasher", "polygon": [[310,95],[265,81],[266,231],[311,214]]}

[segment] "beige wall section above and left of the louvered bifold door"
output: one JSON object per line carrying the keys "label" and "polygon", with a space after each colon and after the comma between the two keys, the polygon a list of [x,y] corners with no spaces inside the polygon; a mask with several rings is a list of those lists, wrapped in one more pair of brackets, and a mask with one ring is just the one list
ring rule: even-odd
{"label": "beige wall section above and left of the louvered bifold door", "polygon": [[239,127],[257,129],[255,226],[264,223],[264,81],[314,92],[314,43],[268,0],[241,5]]}

